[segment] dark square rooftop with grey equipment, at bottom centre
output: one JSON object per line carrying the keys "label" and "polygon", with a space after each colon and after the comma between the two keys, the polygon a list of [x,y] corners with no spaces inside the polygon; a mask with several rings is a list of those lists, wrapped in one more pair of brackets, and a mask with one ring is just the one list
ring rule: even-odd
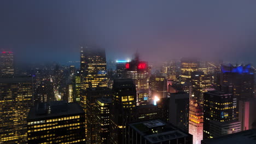
{"label": "dark square rooftop with grey equipment, at bottom centre", "polygon": [[[181,129],[174,127],[174,125],[170,123],[162,122],[160,119],[131,123],[129,126],[136,130],[137,133],[142,135],[150,143],[164,142],[167,140],[178,139],[180,137],[187,137],[190,135]],[[156,133],[151,131],[154,128],[159,128]]]}

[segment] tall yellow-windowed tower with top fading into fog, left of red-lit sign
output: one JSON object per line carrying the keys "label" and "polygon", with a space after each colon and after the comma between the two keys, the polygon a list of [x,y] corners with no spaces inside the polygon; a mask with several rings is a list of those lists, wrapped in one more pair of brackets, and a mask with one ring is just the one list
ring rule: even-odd
{"label": "tall yellow-windowed tower with top fading into fog, left of red-lit sign", "polygon": [[106,54],[97,47],[81,47],[81,88],[107,87]]}

